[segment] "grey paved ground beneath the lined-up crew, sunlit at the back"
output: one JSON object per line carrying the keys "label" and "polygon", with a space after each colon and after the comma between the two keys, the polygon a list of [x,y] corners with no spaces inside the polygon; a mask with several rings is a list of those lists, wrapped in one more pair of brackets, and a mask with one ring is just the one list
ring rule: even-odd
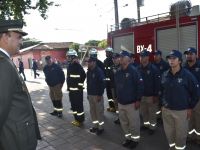
{"label": "grey paved ground beneath the lined-up crew, sunlit at the back", "polygon": [[[49,115],[53,108],[43,73],[39,72],[40,77],[37,79],[33,78],[30,70],[26,70],[25,73],[27,76],[26,84],[38,115],[43,138],[42,141],[39,141],[37,150],[126,150],[121,146],[124,140],[123,132],[119,125],[113,123],[116,114],[105,111],[105,132],[101,136],[96,136],[88,131],[92,124],[86,91],[84,91],[85,123],[81,128],[74,127],[71,125],[74,118],[68,113],[71,106],[66,84],[63,87],[64,116],[60,119]],[[104,104],[106,108],[107,101]],[[162,126],[158,127],[152,136],[141,131],[141,142],[135,150],[168,150]],[[199,147],[188,145],[188,150],[199,150]]]}

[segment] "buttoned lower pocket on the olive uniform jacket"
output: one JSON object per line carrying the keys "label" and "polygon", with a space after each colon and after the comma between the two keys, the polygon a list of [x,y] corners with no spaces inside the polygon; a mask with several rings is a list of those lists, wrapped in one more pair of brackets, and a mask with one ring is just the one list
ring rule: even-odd
{"label": "buttoned lower pocket on the olive uniform jacket", "polygon": [[36,147],[37,138],[35,132],[35,123],[33,121],[25,121],[16,123],[18,144],[20,149],[29,150]]}

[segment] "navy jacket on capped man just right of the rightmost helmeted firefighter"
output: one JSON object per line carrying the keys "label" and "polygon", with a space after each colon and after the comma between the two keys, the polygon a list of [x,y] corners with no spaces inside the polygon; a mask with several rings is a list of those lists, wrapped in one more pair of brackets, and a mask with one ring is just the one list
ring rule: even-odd
{"label": "navy jacket on capped man just right of the rightmost helmeted firefighter", "polygon": [[117,101],[127,105],[139,101],[143,95],[143,80],[132,64],[125,70],[118,70],[115,74]]}

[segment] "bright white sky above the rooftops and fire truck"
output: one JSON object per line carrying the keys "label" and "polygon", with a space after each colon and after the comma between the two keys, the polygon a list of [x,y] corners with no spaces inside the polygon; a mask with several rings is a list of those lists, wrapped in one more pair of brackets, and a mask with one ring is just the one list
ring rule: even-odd
{"label": "bright white sky above the rooftops and fire truck", "polygon": [[[114,0],[52,0],[60,4],[50,7],[44,20],[38,11],[25,16],[29,33],[26,38],[42,42],[76,42],[84,44],[89,40],[107,38],[110,25],[115,24]],[[119,22],[123,18],[137,19],[137,0],[118,0]],[[141,18],[169,12],[170,5],[177,0],[144,0],[140,8]],[[200,0],[190,0],[192,6]],[[128,4],[128,6],[126,5]]]}

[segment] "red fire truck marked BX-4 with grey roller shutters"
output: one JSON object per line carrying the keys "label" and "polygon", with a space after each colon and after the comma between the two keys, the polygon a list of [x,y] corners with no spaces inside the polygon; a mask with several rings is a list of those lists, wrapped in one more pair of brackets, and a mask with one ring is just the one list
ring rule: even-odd
{"label": "red fire truck marked BX-4 with grey roller shutters", "polygon": [[[172,49],[184,52],[188,47],[200,50],[200,11],[193,6],[188,15],[170,15],[170,12],[141,18],[129,25],[111,26],[108,45],[115,51],[140,53],[143,49],[159,49],[165,57]],[[114,27],[114,28],[113,28]]]}

